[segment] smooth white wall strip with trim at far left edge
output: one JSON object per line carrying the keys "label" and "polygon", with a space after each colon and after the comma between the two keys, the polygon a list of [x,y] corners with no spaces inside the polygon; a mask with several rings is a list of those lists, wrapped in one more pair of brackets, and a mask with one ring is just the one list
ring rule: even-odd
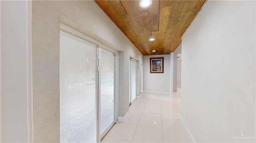
{"label": "smooth white wall strip with trim at far left edge", "polygon": [[0,142],[32,142],[31,1],[0,3]]}

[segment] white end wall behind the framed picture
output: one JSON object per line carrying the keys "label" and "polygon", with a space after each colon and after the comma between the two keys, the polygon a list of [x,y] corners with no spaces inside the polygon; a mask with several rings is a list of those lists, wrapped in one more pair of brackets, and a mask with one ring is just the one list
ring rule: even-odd
{"label": "white end wall behind the framed picture", "polygon": [[[164,57],[164,73],[150,73],[150,58]],[[143,90],[170,94],[170,55],[144,56]]]}

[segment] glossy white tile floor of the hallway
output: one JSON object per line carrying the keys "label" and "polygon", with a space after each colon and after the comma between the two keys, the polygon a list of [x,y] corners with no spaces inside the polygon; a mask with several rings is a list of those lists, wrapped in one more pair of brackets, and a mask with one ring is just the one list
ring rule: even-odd
{"label": "glossy white tile floor of the hallway", "polygon": [[103,143],[190,142],[180,122],[180,98],[166,94],[143,94],[136,99]]}

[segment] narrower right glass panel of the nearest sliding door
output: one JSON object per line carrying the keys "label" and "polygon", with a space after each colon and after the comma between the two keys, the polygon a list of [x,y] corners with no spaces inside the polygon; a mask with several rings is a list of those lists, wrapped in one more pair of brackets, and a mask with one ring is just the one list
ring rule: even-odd
{"label": "narrower right glass panel of the nearest sliding door", "polygon": [[115,54],[101,49],[100,134],[115,120]]}

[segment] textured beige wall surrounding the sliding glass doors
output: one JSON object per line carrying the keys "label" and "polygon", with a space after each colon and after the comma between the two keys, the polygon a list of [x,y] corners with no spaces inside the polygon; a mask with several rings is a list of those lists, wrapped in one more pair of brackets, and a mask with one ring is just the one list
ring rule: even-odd
{"label": "textured beige wall surrounding the sliding glass doors", "polygon": [[129,109],[129,58],[143,64],[143,55],[94,1],[32,1],[34,142],[60,141],[60,23],[122,51],[119,53],[120,117]]}

